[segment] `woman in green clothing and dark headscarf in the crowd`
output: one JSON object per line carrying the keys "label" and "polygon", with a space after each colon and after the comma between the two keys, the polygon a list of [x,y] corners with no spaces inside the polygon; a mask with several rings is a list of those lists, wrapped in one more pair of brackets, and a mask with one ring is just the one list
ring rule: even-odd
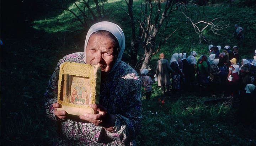
{"label": "woman in green clothing and dark headscarf in the crowd", "polygon": [[202,55],[201,59],[198,60],[198,76],[199,84],[203,85],[203,87],[206,88],[209,83],[209,67],[207,64],[206,55]]}

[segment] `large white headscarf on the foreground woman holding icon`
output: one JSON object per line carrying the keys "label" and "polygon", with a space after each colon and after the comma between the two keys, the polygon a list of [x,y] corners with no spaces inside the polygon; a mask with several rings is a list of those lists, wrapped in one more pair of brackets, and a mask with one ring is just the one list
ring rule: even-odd
{"label": "large white headscarf on the foreground woman holding icon", "polygon": [[119,53],[118,53],[116,62],[114,63],[114,65],[111,69],[111,71],[112,71],[117,66],[119,61],[121,60],[124,49],[125,49],[124,33],[123,33],[122,29],[118,25],[116,25],[115,23],[108,22],[108,21],[102,21],[102,22],[95,23],[94,25],[92,25],[90,27],[89,31],[87,32],[86,38],[85,38],[85,48],[84,48],[85,58],[84,58],[84,61],[86,63],[86,47],[87,47],[88,40],[89,40],[92,33],[96,32],[96,31],[99,31],[99,30],[104,30],[104,31],[108,31],[108,32],[112,33],[117,38],[118,43],[119,43],[119,50],[118,50]]}

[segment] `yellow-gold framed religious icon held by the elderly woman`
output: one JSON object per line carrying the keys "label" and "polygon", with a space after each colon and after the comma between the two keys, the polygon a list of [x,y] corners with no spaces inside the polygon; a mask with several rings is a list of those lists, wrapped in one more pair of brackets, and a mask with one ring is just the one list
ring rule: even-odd
{"label": "yellow-gold framed religious icon held by the elderly woman", "polygon": [[60,65],[58,83],[58,103],[62,105],[57,110],[65,110],[71,115],[95,113],[89,107],[91,103],[99,102],[101,68],[74,62]]}

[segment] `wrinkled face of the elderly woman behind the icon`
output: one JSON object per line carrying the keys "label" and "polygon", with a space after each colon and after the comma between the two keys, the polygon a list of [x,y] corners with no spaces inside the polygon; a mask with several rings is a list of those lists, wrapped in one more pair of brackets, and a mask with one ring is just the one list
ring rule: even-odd
{"label": "wrinkled face of the elderly woman behind the icon", "polygon": [[99,64],[104,76],[111,71],[114,61],[114,42],[111,38],[100,34],[92,34],[86,47],[86,63]]}

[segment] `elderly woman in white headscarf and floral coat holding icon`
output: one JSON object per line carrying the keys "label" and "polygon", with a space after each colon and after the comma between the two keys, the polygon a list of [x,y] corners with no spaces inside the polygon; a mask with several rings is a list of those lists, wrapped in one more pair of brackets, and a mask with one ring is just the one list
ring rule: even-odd
{"label": "elderly woman in white headscarf and floral coat holding icon", "polygon": [[[141,81],[136,71],[121,61],[125,42],[122,29],[111,22],[91,26],[85,39],[85,52],[66,55],[49,80],[44,95],[49,118],[57,121],[57,145],[134,145],[141,124]],[[57,110],[60,64],[72,61],[101,66],[99,104],[90,104],[97,114],[73,118]]]}

